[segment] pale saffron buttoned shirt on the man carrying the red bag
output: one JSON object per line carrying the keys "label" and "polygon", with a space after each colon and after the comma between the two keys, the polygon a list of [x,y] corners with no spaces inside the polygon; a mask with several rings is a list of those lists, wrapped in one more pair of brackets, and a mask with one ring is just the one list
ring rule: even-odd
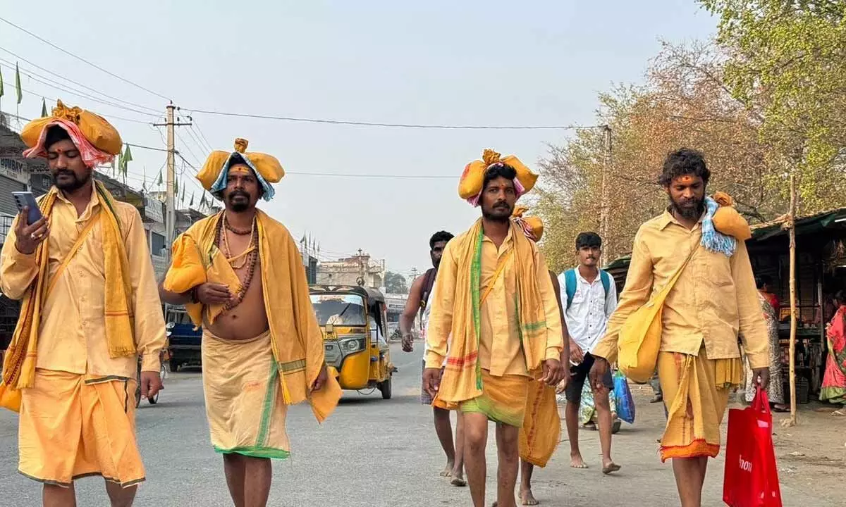
{"label": "pale saffron buttoned shirt on the man carrying the red bag", "polygon": [[660,351],[697,356],[704,342],[709,360],[740,357],[740,335],[750,367],[769,365],[770,344],[745,243],[737,242],[728,257],[700,248],[701,238],[701,220],[689,230],[667,210],[640,226],[617,310],[593,355],[616,359],[625,320],[698,248],[665,300]]}

